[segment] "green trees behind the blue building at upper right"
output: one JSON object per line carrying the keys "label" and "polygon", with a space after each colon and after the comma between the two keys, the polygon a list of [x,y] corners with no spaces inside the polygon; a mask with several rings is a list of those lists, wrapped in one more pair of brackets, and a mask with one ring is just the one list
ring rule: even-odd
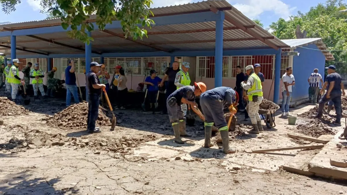
{"label": "green trees behind the blue building at upper right", "polygon": [[347,12],[344,0],[328,0],[311,7],[307,13],[298,12],[288,21],[280,18],[270,28],[272,34],[280,39],[295,39],[297,25],[307,31],[307,38],[321,37],[335,61],[327,61],[326,65],[334,64],[340,73],[347,73]]}

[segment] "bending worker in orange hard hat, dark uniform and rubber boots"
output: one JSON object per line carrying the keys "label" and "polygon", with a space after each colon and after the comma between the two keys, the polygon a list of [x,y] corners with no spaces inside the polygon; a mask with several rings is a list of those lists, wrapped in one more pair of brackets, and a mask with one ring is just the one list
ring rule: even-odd
{"label": "bending worker in orange hard hat, dark uniform and rubber boots", "polygon": [[206,91],[206,85],[202,82],[194,83],[194,86],[184,86],[176,90],[174,93],[169,95],[166,100],[166,107],[172,128],[174,129],[175,142],[178,144],[184,144],[181,139],[183,137],[191,137],[186,132],[186,120],[184,117],[181,104],[191,105],[192,110],[202,119],[205,120],[204,115],[197,108],[195,103],[195,96],[200,95]]}

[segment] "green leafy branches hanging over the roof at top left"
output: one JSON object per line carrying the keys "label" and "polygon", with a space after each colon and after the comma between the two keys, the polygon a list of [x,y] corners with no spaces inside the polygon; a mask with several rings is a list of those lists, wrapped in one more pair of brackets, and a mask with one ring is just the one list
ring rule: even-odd
{"label": "green leafy branches hanging over the roof at top left", "polygon": [[[20,0],[0,0],[2,10],[9,14],[16,10]],[[154,21],[149,18],[152,0],[40,0],[41,12],[51,12],[52,16],[61,18],[64,29],[71,27],[68,35],[89,43],[86,31],[93,31],[94,25],[88,23],[90,15],[96,15],[96,25],[103,30],[112,20],[119,20],[125,37],[133,39],[147,36],[145,26],[150,27]],[[66,15],[64,14],[66,13]]]}

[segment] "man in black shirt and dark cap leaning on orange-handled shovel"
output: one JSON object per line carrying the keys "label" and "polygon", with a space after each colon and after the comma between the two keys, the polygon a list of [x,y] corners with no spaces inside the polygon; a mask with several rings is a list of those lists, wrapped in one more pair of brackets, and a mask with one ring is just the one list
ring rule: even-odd
{"label": "man in black shirt and dark cap leaning on orange-handled shovel", "polygon": [[88,118],[87,118],[87,131],[88,133],[99,133],[100,129],[95,128],[96,119],[99,116],[99,103],[101,88],[106,87],[100,84],[100,80],[96,73],[100,71],[100,64],[97,62],[90,63],[90,71],[86,75],[86,84],[88,89]]}

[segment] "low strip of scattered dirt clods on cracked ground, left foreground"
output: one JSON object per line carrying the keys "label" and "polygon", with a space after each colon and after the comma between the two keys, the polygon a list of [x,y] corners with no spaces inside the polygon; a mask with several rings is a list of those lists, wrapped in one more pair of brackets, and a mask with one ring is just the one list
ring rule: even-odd
{"label": "low strip of scattered dirt clods on cracked ground, left foreground", "polygon": [[41,146],[75,146],[78,148],[86,147],[90,150],[106,150],[119,153],[129,153],[131,148],[143,142],[156,139],[155,135],[142,135],[138,137],[125,137],[120,139],[112,138],[77,138],[67,137],[66,135],[48,134],[39,130],[24,130],[24,138],[11,138],[8,143],[0,144],[0,150],[14,150],[11,153],[25,149],[35,149]]}

